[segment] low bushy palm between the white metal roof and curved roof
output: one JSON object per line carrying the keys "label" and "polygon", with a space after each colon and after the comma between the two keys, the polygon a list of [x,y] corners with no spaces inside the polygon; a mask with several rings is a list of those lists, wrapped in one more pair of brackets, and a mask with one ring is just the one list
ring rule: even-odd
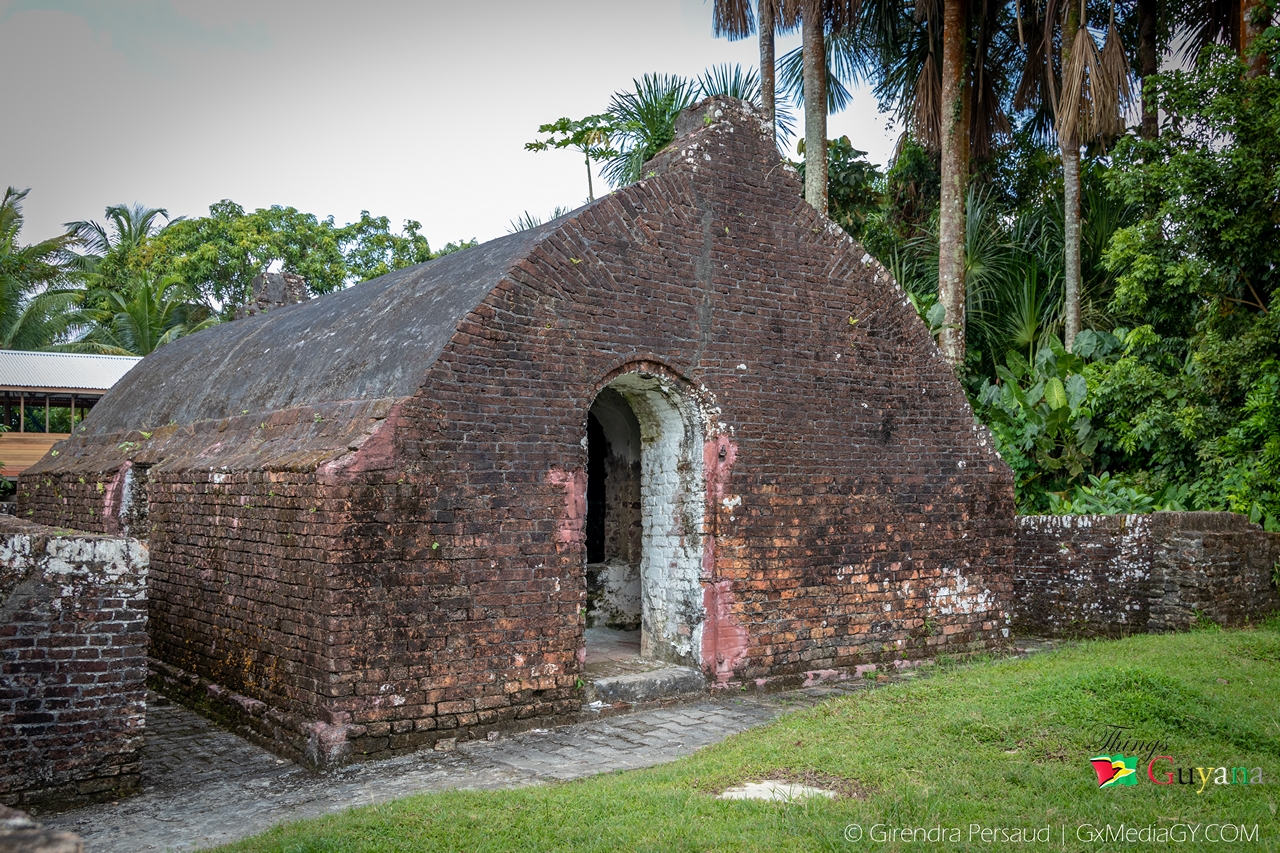
{"label": "low bushy palm between the white metal roof and curved roof", "polygon": [[67,352],[146,356],[183,336],[219,321],[197,293],[175,275],[138,277],[122,289],[96,288],[72,323],[84,328],[73,343],[54,348]]}

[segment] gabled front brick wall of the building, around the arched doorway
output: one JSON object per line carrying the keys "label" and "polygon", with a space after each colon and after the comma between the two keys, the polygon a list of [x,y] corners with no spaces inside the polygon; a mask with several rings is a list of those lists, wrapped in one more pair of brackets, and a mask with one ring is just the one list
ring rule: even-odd
{"label": "gabled front brick wall of the building, around the arched doorway", "polygon": [[659,168],[540,243],[406,403],[421,526],[352,552],[335,593],[357,679],[335,706],[358,736],[575,707],[586,411],[626,371],[667,377],[708,419],[713,680],[1001,639],[1009,471],[902,292],[791,177],[765,188],[781,169],[748,132],[712,124],[671,154],[736,172]]}

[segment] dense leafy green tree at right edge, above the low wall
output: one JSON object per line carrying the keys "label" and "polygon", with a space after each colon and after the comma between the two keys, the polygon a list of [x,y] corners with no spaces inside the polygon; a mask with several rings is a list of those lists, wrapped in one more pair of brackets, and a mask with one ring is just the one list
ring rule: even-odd
{"label": "dense leafy green tree at right edge, above the low wall", "polygon": [[1107,175],[1137,211],[1105,252],[1135,328],[1091,365],[1102,453],[1152,494],[1277,528],[1280,81],[1206,51],[1151,86],[1169,123],[1121,140]]}

